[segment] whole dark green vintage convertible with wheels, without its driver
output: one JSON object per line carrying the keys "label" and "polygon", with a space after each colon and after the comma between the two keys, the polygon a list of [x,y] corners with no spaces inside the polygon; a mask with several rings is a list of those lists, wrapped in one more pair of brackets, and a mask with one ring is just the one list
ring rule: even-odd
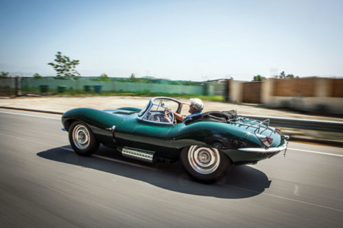
{"label": "whole dark green vintage convertible with wheels, without its driver", "polygon": [[62,129],[79,155],[95,153],[102,143],[146,162],[180,159],[191,177],[206,183],[221,179],[233,165],[256,164],[287,149],[287,136],[269,127],[268,120],[230,111],[206,112],[180,123],[171,111],[186,114],[182,105],[154,97],[143,109],[75,108],[63,114]]}

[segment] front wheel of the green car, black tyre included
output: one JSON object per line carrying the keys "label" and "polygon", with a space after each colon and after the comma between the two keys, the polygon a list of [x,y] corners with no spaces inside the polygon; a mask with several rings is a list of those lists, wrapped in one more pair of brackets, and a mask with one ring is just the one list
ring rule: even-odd
{"label": "front wheel of the green car, black tyre included", "polygon": [[75,121],[69,128],[69,142],[79,155],[89,156],[99,149],[99,142],[93,132],[81,121]]}

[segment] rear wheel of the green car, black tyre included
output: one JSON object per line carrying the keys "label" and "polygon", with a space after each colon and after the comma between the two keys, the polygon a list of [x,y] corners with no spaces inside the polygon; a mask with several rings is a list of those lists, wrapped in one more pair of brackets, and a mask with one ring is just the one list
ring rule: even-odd
{"label": "rear wheel of the green car, black tyre included", "polygon": [[213,147],[186,147],[182,149],[180,158],[187,173],[204,183],[219,181],[231,169],[228,156]]}

